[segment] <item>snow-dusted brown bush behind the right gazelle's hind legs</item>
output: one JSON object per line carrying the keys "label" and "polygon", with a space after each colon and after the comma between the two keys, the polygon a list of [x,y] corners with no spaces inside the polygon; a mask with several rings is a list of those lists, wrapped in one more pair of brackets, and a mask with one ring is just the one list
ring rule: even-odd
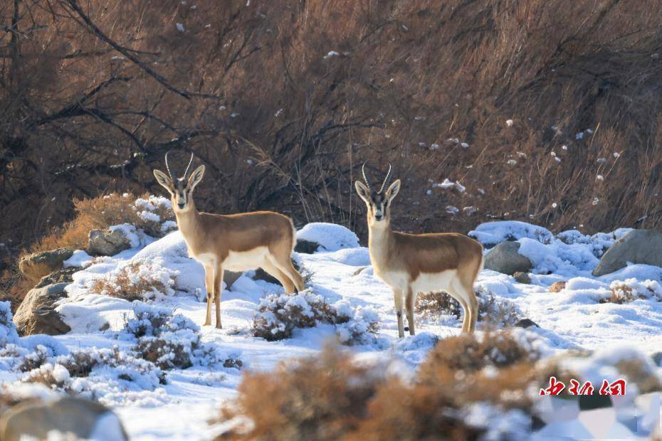
{"label": "snow-dusted brown bush behind the right gazelle's hind legs", "polygon": [[[520,311],[513,302],[495,297],[495,294],[487,289],[478,288],[476,298],[479,322],[512,326],[521,318]],[[426,318],[451,315],[459,319],[463,309],[456,299],[445,292],[425,292],[416,297],[416,312]]]}

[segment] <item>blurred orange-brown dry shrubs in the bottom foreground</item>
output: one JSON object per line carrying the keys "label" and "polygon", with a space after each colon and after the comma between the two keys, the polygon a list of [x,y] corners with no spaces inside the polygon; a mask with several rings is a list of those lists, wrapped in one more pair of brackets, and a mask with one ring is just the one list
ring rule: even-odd
{"label": "blurred orange-brown dry shrubs in the bottom foreground", "polygon": [[[221,410],[220,420],[236,418],[235,425],[219,439],[476,439],[485,429],[465,423],[466,405],[526,408],[536,358],[510,334],[488,334],[483,342],[451,337],[431,352],[414,384],[406,384],[329,346],[273,373],[244,374],[237,400]],[[497,372],[480,371],[485,366]]]}

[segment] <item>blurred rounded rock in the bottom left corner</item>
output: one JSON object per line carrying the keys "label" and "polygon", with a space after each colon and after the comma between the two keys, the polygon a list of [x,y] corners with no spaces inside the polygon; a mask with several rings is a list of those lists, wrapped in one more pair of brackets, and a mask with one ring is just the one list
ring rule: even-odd
{"label": "blurred rounded rock in the bottom left corner", "polygon": [[[100,403],[82,398],[42,402],[28,400],[9,408],[0,417],[0,440],[51,439],[57,431],[78,440],[128,440],[120,418]],[[70,439],[64,437],[63,439]]]}

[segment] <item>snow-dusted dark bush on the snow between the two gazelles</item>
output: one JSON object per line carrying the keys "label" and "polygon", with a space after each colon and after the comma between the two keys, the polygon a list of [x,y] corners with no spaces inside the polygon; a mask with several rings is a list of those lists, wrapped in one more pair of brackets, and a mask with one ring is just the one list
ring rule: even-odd
{"label": "snow-dusted dark bush on the snow between the two gazelles", "polygon": [[361,343],[377,331],[377,314],[369,309],[352,312],[346,304],[337,309],[326,299],[305,289],[297,294],[271,294],[260,301],[253,318],[253,334],[268,341],[288,339],[296,328],[312,328],[318,323],[335,324],[341,341]]}

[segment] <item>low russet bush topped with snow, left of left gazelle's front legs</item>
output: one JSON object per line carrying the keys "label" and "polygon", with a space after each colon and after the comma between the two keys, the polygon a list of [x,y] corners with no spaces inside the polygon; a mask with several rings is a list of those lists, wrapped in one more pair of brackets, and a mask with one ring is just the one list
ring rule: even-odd
{"label": "low russet bush topped with snow, left of left gazelle's front legs", "polygon": [[174,294],[172,272],[158,262],[132,262],[107,277],[95,279],[90,292],[129,301],[159,299]]}

